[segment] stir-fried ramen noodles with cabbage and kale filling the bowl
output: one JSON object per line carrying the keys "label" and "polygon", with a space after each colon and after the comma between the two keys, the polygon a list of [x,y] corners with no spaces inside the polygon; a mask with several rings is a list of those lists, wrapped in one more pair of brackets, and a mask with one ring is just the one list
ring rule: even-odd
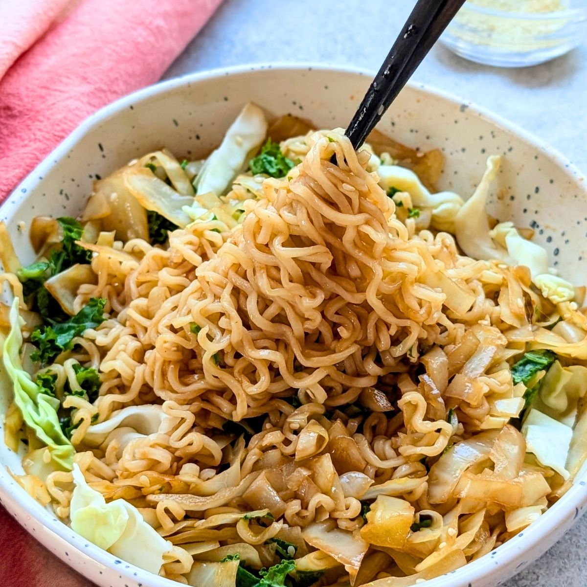
{"label": "stir-fried ramen noodles with cabbage and kale filling the bowl", "polygon": [[585,461],[587,311],[488,215],[500,163],[461,198],[439,151],[248,104],[35,218],[31,265],[0,224],[15,479],[198,587],[403,587],[507,541]]}

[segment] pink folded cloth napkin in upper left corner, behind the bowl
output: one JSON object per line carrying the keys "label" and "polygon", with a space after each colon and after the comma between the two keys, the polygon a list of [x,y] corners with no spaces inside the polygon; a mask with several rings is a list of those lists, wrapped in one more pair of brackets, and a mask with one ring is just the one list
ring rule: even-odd
{"label": "pink folded cloth napkin in upper left corner, behind the bowl", "polygon": [[89,114],[156,82],[220,2],[0,0],[0,203]]}

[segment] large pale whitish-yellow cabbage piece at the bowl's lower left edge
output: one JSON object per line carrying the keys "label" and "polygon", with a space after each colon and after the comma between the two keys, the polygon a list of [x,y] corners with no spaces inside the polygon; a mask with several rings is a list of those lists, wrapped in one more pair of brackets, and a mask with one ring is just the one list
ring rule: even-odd
{"label": "large pale whitish-yellow cabbage piece at the bowl's lower left edge", "polygon": [[73,465],[73,482],[69,514],[73,531],[131,565],[157,575],[171,543],[144,521],[134,505],[124,500],[107,504],[103,495],[86,483],[77,465]]}

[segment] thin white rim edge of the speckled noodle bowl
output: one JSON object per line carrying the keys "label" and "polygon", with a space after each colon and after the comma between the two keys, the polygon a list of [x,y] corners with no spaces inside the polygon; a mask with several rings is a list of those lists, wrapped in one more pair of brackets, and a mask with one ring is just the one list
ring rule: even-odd
{"label": "thin white rim edge of the speckled noodle bowl", "polygon": [[[114,102],[103,106],[80,123],[75,130],[59,143],[55,149],[50,151],[50,153],[43,158],[41,163],[39,163],[38,166],[36,166],[21,181],[21,183],[12,190],[8,197],[6,197],[4,203],[0,205],[0,212],[6,217],[12,215],[12,210],[17,208],[23,199],[30,197],[32,191],[43,182],[42,178],[45,177],[50,168],[57,164],[60,159],[67,156],[70,151],[75,149],[77,143],[87,132],[98,126],[103,120],[123,112],[131,104],[142,102],[143,100],[150,99],[154,96],[164,95],[177,87],[217,79],[228,75],[242,75],[262,70],[289,70],[296,72],[301,70],[318,70],[329,73],[340,73],[344,75],[351,74],[366,77],[373,77],[375,75],[375,72],[370,72],[367,69],[349,65],[325,65],[323,63],[315,62],[279,62],[271,65],[252,63],[189,73],[187,75],[174,77],[141,88],[136,92],[130,93],[129,95],[123,96]],[[460,99],[453,93],[438,90],[424,83],[410,82],[407,86],[411,90],[423,93],[423,95],[433,96],[452,104],[460,104],[461,108],[466,107],[470,112],[499,127],[500,130],[514,134],[531,144],[535,149],[542,151],[542,153],[551,158],[557,166],[563,168],[567,173],[570,173],[578,184],[585,180],[585,176],[581,171],[579,171],[571,161],[559,153],[558,150],[549,146],[542,139],[535,137],[532,133],[522,129],[517,124],[508,121],[500,114],[495,114],[485,107],[477,106],[477,104],[474,104],[469,100]],[[14,197],[15,195],[18,195],[19,197]],[[553,504],[551,508],[546,510],[537,521],[532,523],[533,531],[531,533],[527,534],[524,529],[510,540],[491,551],[491,553],[488,553],[475,561],[471,561],[467,565],[456,571],[452,571],[447,575],[429,579],[425,584],[430,587],[453,587],[454,585],[466,585],[471,579],[490,579],[498,568],[497,561],[495,560],[498,557],[501,562],[500,566],[507,564],[512,565],[516,562],[516,559],[523,557],[525,551],[537,547],[539,549],[539,542],[542,537],[555,531],[559,517],[565,519],[566,517],[573,515],[573,509],[575,510],[573,521],[579,517],[579,511],[587,503],[587,492],[584,488],[585,485],[587,485],[587,470],[583,468],[583,471],[579,472],[575,478],[575,482],[566,494]],[[20,487],[9,471],[4,467],[0,467],[0,503],[5,505],[6,510],[13,517],[16,516],[16,512],[19,512],[21,516],[24,515],[28,518],[34,517],[36,522],[41,524],[45,531],[48,531],[50,534],[55,535],[56,538],[67,542],[70,549],[73,549],[73,551],[76,552],[76,555],[80,558],[91,558],[94,563],[97,562],[104,568],[119,572],[120,575],[129,579],[131,582],[142,581],[144,585],[152,585],[153,587],[173,587],[178,585],[177,582],[154,575],[154,573],[145,571],[137,566],[126,564],[124,561],[122,561],[123,564],[120,564],[121,561],[113,554],[104,551],[102,548],[99,548],[94,544],[87,544],[88,541],[86,541],[86,539],[81,535],[76,534],[76,532],[73,532],[68,525],[56,518],[52,512],[46,510],[41,504],[39,504],[39,502]],[[559,515],[559,512],[561,515]],[[34,534],[33,537],[36,538]],[[530,558],[534,559],[534,556],[531,556]],[[65,560],[65,562],[68,563],[73,570],[79,572],[72,562],[72,557],[69,557],[69,560]],[[526,562],[527,561],[521,562],[515,567],[515,570],[517,571],[518,569],[521,569]]]}

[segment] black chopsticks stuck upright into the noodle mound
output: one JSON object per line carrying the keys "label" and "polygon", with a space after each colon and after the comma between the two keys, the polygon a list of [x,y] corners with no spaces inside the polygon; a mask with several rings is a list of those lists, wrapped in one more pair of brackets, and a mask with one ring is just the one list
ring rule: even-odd
{"label": "black chopsticks stuck upright into the noodle mound", "polygon": [[355,150],[375,128],[464,2],[418,0],[346,129]]}

